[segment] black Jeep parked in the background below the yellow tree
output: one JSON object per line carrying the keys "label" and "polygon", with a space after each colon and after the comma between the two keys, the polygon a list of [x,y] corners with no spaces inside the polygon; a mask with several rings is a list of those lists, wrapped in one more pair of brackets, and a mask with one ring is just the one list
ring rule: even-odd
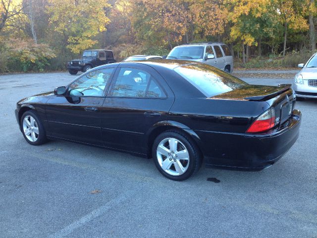
{"label": "black Jeep parked in the background below the yellow tree", "polygon": [[89,69],[107,63],[115,63],[112,51],[109,50],[87,50],[84,51],[82,59],[71,60],[67,63],[70,74],[77,74],[78,71],[86,72]]}

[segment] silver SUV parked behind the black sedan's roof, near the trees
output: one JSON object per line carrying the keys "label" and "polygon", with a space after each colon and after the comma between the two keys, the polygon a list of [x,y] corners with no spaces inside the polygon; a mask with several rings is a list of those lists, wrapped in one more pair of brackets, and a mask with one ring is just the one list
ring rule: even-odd
{"label": "silver SUV parked behind the black sedan's roof, near the trees", "polygon": [[228,73],[233,70],[233,57],[226,44],[205,42],[174,47],[166,57],[168,60],[192,60],[207,63]]}

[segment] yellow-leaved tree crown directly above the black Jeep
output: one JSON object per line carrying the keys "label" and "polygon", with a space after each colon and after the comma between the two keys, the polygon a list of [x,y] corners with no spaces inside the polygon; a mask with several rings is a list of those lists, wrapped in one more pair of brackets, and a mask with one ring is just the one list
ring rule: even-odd
{"label": "yellow-leaved tree crown directly above the black Jeep", "polygon": [[93,38],[106,31],[109,18],[105,0],[49,0],[50,26],[67,40],[67,48],[78,54],[98,43]]}

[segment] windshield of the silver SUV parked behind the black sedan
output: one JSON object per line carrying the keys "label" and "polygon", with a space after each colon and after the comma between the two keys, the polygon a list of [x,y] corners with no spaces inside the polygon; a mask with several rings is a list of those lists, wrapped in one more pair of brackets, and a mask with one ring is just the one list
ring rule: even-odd
{"label": "windshield of the silver SUV parked behind the black sedan", "polygon": [[166,59],[203,59],[204,46],[175,47]]}

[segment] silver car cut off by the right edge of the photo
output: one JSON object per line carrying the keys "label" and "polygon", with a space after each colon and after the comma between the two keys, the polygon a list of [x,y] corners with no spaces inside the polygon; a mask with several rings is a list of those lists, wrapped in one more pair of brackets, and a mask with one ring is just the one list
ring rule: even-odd
{"label": "silver car cut off by the right edge of the photo", "polygon": [[295,75],[293,89],[298,98],[317,98],[317,53],[306,64],[300,63],[302,70]]}

